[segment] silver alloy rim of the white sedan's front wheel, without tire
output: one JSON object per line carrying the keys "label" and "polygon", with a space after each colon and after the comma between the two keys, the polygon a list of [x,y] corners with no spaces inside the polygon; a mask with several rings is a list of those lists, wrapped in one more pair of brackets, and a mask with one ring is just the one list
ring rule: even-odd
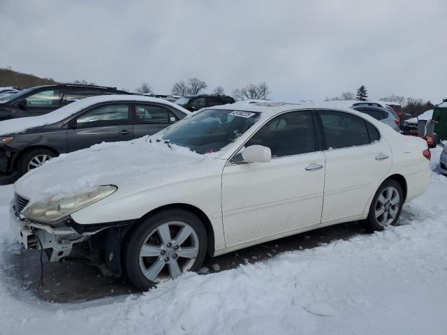
{"label": "silver alloy rim of the white sedan's front wheel, without tire", "polygon": [[191,269],[198,249],[198,236],[191,225],[181,221],[163,223],[142,243],[140,270],[154,283],[175,279]]}

